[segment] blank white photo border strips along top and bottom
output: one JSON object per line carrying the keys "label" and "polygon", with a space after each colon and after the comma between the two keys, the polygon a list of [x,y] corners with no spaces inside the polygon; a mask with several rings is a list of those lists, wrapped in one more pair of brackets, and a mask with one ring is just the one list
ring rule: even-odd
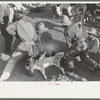
{"label": "blank white photo border strips along top and bottom", "polygon": [[[1,1],[44,3],[46,1]],[[100,3],[99,1],[47,1],[47,3]],[[0,98],[100,98],[100,82],[0,82]]]}

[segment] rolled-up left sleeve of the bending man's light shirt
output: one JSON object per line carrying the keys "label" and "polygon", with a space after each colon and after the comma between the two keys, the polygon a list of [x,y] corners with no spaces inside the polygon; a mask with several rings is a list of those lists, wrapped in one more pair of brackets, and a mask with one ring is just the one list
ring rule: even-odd
{"label": "rolled-up left sleeve of the bending man's light shirt", "polygon": [[17,23],[14,22],[6,28],[7,32],[11,35],[16,35]]}

